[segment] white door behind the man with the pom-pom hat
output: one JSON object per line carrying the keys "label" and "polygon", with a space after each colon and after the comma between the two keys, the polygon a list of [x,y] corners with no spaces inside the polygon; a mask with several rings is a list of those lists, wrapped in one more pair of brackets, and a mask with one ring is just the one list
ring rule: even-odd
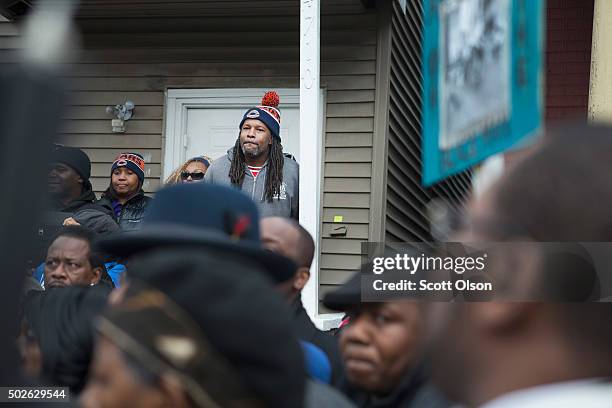
{"label": "white door behind the man with the pom-pom hat", "polygon": [[[282,100],[282,99],[281,99]],[[248,107],[208,108],[192,106],[186,110],[185,159],[202,154],[217,159],[236,143],[238,125]],[[297,106],[281,110],[283,151],[299,157],[300,112]]]}

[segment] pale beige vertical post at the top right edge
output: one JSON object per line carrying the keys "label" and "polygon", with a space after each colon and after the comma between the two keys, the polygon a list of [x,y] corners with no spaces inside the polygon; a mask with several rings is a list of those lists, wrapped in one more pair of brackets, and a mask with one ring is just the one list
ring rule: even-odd
{"label": "pale beige vertical post at the top right edge", "polygon": [[595,0],[589,119],[612,124],[612,1]]}

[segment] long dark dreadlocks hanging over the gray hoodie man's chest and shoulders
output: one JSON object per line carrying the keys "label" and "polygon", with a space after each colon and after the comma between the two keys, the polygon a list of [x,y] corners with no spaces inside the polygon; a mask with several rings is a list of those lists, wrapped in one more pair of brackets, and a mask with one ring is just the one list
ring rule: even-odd
{"label": "long dark dreadlocks hanging over the gray hoodie man's chest and shoulders", "polygon": [[[268,202],[272,202],[273,197],[280,194],[280,186],[283,182],[284,164],[285,156],[283,156],[283,146],[277,138],[273,137],[272,144],[270,145],[270,154],[268,155],[266,189],[264,191],[264,198]],[[234,186],[242,187],[245,171],[246,158],[240,146],[240,136],[238,136],[238,140],[236,140],[236,144],[234,145],[232,165],[228,174]]]}

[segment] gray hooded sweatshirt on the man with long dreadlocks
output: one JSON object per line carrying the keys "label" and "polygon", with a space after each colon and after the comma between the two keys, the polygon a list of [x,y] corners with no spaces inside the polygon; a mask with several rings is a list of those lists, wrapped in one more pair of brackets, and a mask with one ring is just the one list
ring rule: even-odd
{"label": "gray hooded sweatshirt on the man with long dreadlocks", "polygon": [[[206,171],[204,179],[209,183],[232,185],[229,178],[229,170],[231,167],[231,158],[233,157],[232,147],[227,151],[227,154],[218,158],[211,163]],[[300,186],[300,166],[293,159],[285,157],[283,164],[283,182],[280,188],[280,194],[268,202],[264,199],[266,190],[266,175],[268,163],[264,164],[263,168],[253,178],[251,172],[246,169],[244,181],[242,182],[242,191],[255,201],[259,208],[261,218],[278,216],[298,219],[298,204],[299,204],[299,186]]]}

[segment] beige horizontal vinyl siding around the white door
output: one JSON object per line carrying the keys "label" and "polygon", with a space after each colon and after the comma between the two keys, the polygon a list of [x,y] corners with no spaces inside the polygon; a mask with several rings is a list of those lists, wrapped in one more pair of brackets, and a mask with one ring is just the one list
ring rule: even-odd
{"label": "beige horizontal vinyl siding around the white door", "polygon": [[[297,1],[182,3],[169,11],[161,1],[131,0],[126,7],[123,0],[82,2],[84,49],[67,66],[72,97],[62,141],[89,154],[97,192],[108,183],[113,158],[127,150],[145,156],[145,190],[159,188],[166,89],[299,87]],[[369,236],[377,51],[376,10],[360,0],[322,3],[321,294],[357,269],[360,244]],[[250,16],[236,12],[245,8]],[[225,9],[234,12],[223,15]],[[264,9],[272,11],[254,20]],[[15,60],[12,50],[0,53],[0,62]],[[128,99],[136,105],[134,118],[127,133],[113,134],[105,107]],[[344,218],[345,237],[330,234],[337,215]]]}

